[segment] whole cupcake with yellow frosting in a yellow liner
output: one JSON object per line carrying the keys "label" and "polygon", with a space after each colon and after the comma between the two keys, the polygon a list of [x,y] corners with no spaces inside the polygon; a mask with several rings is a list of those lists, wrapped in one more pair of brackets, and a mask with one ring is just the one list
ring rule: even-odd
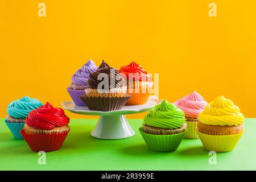
{"label": "whole cupcake with yellow frosting in a yellow liner", "polygon": [[207,150],[232,151],[243,134],[244,120],[239,107],[233,101],[220,96],[199,114],[197,133]]}

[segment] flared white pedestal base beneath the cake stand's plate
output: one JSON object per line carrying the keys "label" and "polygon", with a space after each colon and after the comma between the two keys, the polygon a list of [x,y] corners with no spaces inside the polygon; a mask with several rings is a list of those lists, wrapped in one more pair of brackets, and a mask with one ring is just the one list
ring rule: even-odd
{"label": "flared white pedestal base beneath the cake stand's plate", "polygon": [[134,131],[125,115],[101,115],[91,135],[100,139],[123,139],[133,137]]}

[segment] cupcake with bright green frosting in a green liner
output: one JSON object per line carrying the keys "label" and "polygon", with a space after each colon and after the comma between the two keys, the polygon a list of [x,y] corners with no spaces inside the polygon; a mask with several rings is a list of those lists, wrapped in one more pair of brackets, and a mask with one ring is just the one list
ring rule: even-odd
{"label": "cupcake with bright green frosting in a green liner", "polygon": [[186,127],[183,110],[164,100],[144,117],[139,131],[150,150],[167,152],[179,147]]}

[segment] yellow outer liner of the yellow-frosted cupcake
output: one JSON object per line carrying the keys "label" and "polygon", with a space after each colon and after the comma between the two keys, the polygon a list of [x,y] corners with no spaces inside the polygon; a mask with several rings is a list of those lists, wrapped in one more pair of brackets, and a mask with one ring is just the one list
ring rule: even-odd
{"label": "yellow outer liner of the yellow-frosted cupcake", "polygon": [[200,133],[197,129],[196,131],[205,149],[216,152],[229,152],[233,151],[237,146],[244,130],[235,135],[207,135]]}

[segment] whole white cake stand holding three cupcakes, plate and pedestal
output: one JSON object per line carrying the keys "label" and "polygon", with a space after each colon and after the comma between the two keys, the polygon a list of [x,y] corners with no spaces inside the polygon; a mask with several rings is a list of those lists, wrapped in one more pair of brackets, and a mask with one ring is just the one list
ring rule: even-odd
{"label": "whole white cake stand holding three cupcakes, plate and pedestal", "polygon": [[73,101],[64,101],[62,106],[63,109],[76,114],[100,115],[97,126],[91,133],[92,137],[99,139],[123,139],[134,135],[134,131],[127,122],[125,115],[143,113],[159,103],[158,97],[150,96],[146,104],[123,106],[121,110],[114,111],[89,110],[88,107],[76,106]]}

